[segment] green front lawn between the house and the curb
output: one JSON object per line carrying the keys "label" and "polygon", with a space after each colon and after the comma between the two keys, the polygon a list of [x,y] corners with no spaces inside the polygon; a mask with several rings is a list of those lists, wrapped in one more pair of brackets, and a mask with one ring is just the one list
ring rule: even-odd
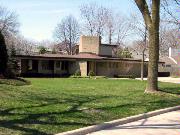
{"label": "green front lawn between the house and the curb", "polygon": [[[180,104],[177,95],[144,94],[145,81],[27,80],[0,80],[0,134],[54,134]],[[160,89],[179,94],[180,85]]]}

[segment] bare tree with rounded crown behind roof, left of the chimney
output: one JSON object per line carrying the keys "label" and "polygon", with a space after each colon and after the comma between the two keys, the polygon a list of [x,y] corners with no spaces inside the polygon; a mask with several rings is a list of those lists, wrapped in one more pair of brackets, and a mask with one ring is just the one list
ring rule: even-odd
{"label": "bare tree with rounded crown behind roof, left of the chimney", "polygon": [[73,16],[67,16],[57,25],[54,31],[55,38],[65,44],[66,51],[72,55],[72,47],[79,39],[79,24]]}

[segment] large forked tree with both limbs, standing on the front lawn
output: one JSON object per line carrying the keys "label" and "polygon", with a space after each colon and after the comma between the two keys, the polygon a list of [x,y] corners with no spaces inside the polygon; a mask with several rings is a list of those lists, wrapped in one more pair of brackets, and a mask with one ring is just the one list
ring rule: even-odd
{"label": "large forked tree with both limbs, standing on the front lawn", "polygon": [[148,83],[146,92],[155,92],[158,90],[160,0],[152,0],[151,6],[148,6],[146,0],[134,1],[144,18],[149,33]]}

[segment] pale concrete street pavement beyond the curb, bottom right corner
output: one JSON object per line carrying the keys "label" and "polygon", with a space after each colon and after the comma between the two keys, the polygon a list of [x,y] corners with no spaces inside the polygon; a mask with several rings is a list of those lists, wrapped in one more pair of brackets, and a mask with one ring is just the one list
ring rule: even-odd
{"label": "pale concrete street pavement beyond the curb, bottom right corner", "polygon": [[97,131],[89,135],[180,135],[180,110]]}

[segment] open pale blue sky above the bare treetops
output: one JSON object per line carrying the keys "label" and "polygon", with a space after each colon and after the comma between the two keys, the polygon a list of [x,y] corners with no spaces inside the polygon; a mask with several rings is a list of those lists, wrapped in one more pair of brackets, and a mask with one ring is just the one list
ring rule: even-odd
{"label": "open pale blue sky above the bare treetops", "polygon": [[33,40],[52,40],[57,23],[64,16],[80,18],[79,7],[95,2],[110,7],[116,12],[128,15],[136,6],[133,0],[0,0],[0,5],[16,11],[21,23],[21,34]]}

